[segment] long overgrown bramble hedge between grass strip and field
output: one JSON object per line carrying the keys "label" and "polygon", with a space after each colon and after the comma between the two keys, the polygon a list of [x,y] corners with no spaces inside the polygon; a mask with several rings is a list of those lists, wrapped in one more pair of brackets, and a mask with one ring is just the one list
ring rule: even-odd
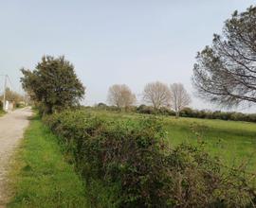
{"label": "long overgrown bramble hedge between grass strip and field", "polygon": [[82,175],[92,207],[246,207],[255,190],[198,147],[168,147],[156,118],[85,111],[44,119]]}

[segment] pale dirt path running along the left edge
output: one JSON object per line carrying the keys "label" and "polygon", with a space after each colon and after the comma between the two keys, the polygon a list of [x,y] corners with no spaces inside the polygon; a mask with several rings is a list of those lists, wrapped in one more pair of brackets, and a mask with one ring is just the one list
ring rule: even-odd
{"label": "pale dirt path running along the left edge", "polygon": [[6,175],[9,159],[23,137],[31,114],[31,110],[25,108],[0,117],[0,208],[5,207],[8,199]]}

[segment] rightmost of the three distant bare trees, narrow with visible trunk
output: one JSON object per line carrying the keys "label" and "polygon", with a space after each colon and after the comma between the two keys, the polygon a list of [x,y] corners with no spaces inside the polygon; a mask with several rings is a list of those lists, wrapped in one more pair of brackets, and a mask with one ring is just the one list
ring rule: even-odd
{"label": "rightmost of the three distant bare trees, narrow with visible trunk", "polygon": [[171,108],[174,109],[176,117],[179,116],[180,111],[191,103],[191,96],[187,93],[183,84],[174,83],[170,86],[171,90]]}

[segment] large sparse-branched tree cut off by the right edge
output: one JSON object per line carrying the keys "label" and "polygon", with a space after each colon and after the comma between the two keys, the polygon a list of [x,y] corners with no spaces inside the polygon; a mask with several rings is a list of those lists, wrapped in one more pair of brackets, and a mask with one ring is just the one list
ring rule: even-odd
{"label": "large sparse-branched tree cut off by the right edge", "polygon": [[211,102],[256,103],[256,7],[235,11],[223,34],[198,52],[192,80],[198,95]]}

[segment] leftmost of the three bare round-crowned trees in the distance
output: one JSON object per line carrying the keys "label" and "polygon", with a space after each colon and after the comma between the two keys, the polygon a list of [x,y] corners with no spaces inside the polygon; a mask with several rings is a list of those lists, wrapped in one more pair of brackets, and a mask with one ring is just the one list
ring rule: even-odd
{"label": "leftmost of the three bare round-crowned trees in the distance", "polygon": [[115,84],[108,90],[107,100],[109,104],[120,108],[129,108],[136,103],[136,95],[125,84]]}

